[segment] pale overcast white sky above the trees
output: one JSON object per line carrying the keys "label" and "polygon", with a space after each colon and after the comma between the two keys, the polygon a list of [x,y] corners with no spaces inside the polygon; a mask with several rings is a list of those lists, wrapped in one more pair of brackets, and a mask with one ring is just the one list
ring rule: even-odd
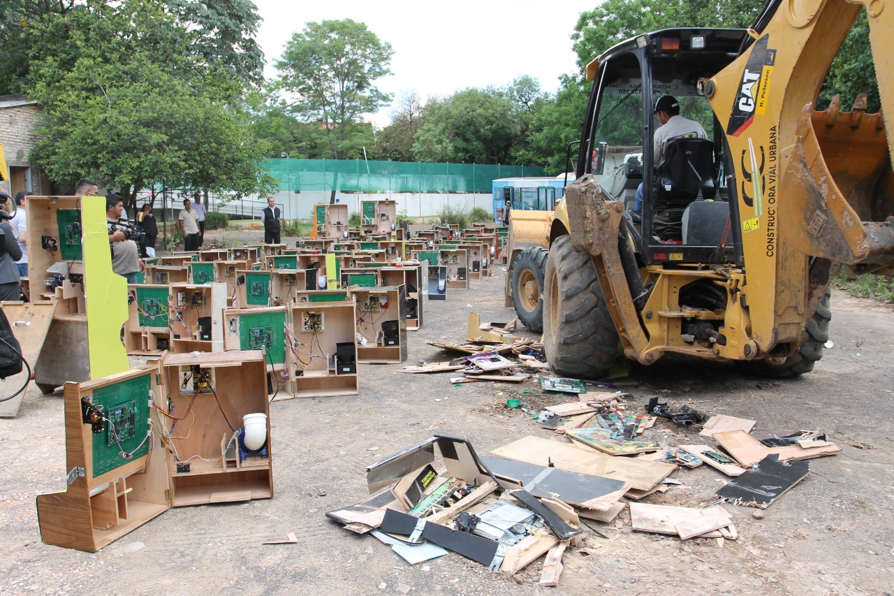
{"label": "pale overcast white sky above the trees", "polygon": [[[575,72],[570,35],[578,15],[600,0],[455,0],[425,4],[405,0],[291,2],[254,0],[264,20],[257,41],[268,78],[292,33],[306,22],[353,19],[392,45],[392,75],[377,81],[395,101],[409,91],[424,100],[469,87],[502,87],[527,74],[544,91],[559,89],[559,76]],[[595,56],[594,56],[595,57]],[[370,120],[390,122],[392,107]]]}

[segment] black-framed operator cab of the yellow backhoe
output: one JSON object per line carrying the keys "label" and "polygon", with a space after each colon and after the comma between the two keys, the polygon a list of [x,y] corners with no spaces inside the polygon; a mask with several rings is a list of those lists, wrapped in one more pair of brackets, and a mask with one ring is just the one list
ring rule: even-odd
{"label": "black-framed operator cab of the yellow backhoe", "polygon": [[[747,37],[746,30],[660,30],[620,43],[587,66],[594,85],[577,175],[595,175],[623,202],[641,263],[742,262],[735,184],[725,175],[732,171],[729,150],[700,85],[736,58]],[[676,98],[679,115],[701,124],[707,139],[671,138],[659,161],[654,135],[662,96]]]}

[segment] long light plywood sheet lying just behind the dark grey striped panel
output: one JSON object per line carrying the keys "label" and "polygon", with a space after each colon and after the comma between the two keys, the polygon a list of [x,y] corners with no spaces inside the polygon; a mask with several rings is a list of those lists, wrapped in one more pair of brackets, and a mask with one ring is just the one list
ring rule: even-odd
{"label": "long light plywood sheet lying just behind the dark grey striped panel", "polygon": [[630,488],[638,490],[651,489],[677,469],[674,464],[607,456],[587,447],[574,447],[539,437],[519,438],[491,453],[528,464],[548,466],[552,462],[561,470],[629,482]]}

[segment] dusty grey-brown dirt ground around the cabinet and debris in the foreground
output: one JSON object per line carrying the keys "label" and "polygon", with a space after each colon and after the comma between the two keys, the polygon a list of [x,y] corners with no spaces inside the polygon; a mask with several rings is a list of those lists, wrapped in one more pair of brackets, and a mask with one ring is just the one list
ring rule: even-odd
{"label": "dusty grey-brown dirt ground around the cabinet and debris in the foreground", "polygon": [[[257,233],[255,233],[257,234]],[[502,308],[505,273],[428,302],[425,327],[409,332],[409,364],[451,354],[426,340],[460,340],[468,312],[508,321]],[[399,365],[360,365],[358,396],[276,401],[271,405],[272,499],[172,509],[96,554],[40,541],[35,496],[64,485],[62,391],[31,387],[18,418],[0,420],[0,592],[194,594],[798,594],[894,592],[894,422],[890,416],[894,307],[835,292],[834,346],[813,373],[767,381],[734,367],[662,360],[634,367],[624,387],[637,408],[651,396],[690,404],[703,413],[752,418],[755,436],[797,430],[829,433],[842,451],[810,461],[811,474],[771,507],[726,505],[738,541],[631,532],[624,512],[590,535],[594,554],[566,552],[557,588],[536,582],[543,559],[515,577],[449,554],[409,566],[371,536],[327,520],[325,512],[367,496],[364,465],[433,433],[469,438],[486,454],[526,435],[550,438],[530,414],[502,404],[521,386],[493,382],[454,387],[446,375],[410,375]],[[536,391],[535,391],[536,394]],[[531,396],[520,394],[519,396]],[[533,396],[532,396],[533,397]],[[539,399],[539,397],[535,397]],[[552,403],[567,401],[551,398]],[[659,420],[646,436],[693,442]],[[560,438],[559,440],[567,440]],[[713,499],[724,477],[711,468],[679,469],[682,481],[645,502],[698,507]],[[596,523],[595,523],[596,524]],[[599,525],[599,524],[596,524]],[[263,546],[295,532],[297,544]]]}

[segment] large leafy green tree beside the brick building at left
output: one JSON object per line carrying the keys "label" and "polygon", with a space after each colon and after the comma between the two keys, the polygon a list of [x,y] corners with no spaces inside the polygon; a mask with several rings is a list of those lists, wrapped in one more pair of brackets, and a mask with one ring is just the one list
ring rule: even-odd
{"label": "large leafy green tree beside the brick building at left", "polygon": [[274,187],[266,143],[248,134],[244,82],[190,49],[197,37],[179,15],[123,0],[29,30],[30,97],[44,108],[31,159],[55,180],[88,175],[120,187],[130,208],[154,183],[237,196]]}

